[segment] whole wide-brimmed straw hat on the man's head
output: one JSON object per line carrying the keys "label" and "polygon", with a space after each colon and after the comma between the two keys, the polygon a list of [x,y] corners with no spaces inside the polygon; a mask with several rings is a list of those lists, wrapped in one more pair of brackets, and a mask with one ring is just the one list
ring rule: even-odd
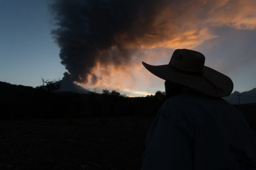
{"label": "whole wide-brimmed straw hat on the man's head", "polygon": [[214,97],[229,96],[233,82],[226,75],[204,66],[205,57],[198,51],[177,49],[167,65],[142,62],[152,74]]}

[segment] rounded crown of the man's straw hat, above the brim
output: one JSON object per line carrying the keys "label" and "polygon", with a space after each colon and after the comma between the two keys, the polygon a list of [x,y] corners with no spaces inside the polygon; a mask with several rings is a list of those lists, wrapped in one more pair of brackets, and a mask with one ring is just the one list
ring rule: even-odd
{"label": "rounded crown of the man's straw hat, above the brim", "polygon": [[202,74],[205,57],[198,51],[177,49],[173,52],[169,65],[182,71]]}

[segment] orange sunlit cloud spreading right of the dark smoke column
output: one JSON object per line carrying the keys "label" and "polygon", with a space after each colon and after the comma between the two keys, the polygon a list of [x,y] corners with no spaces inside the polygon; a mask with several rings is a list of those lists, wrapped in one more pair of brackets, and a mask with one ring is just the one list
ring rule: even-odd
{"label": "orange sunlit cloud spreading right of the dark smoke column", "polygon": [[[174,49],[195,48],[206,40],[218,37],[211,31],[212,27],[256,28],[254,0],[195,0],[178,4],[170,2],[156,8],[159,12],[154,13],[151,20],[145,18],[148,16],[141,16],[131,29],[115,35],[114,40],[119,46],[113,45],[111,49],[136,49],[131,57],[120,60],[118,64],[111,60],[97,62],[91,70],[89,84],[84,86],[119,89],[144,96],[152,94],[153,91],[149,93],[136,89],[154,87],[163,83],[163,80],[146,71],[141,61],[154,64],[163,59],[167,64]],[[160,51],[154,51],[156,48]],[[111,54],[110,51],[107,52]],[[163,61],[161,64],[164,64]],[[93,81],[93,75],[99,79]]]}

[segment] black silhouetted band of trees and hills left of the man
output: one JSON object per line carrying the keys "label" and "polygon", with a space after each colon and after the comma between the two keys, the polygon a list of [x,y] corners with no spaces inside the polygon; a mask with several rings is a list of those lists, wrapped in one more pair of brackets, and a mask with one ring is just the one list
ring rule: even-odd
{"label": "black silhouetted band of trees and hills left of the man", "polygon": [[43,79],[36,88],[0,82],[0,120],[73,119],[86,116],[155,116],[165,101],[157,91],[146,97],[127,97],[103,89],[102,94],[57,92],[58,84]]}

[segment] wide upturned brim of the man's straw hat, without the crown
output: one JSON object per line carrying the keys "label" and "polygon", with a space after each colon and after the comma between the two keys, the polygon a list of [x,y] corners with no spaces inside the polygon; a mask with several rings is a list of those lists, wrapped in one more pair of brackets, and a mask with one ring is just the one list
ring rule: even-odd
{"label": "wide upturned brim of the man's straw hat, without the crown", "polygon": [[204,66],[202,75],[193,75],[180,72],[169,65],[149,65],[145,62],[142,64],[161,79],[185,85],[209,96],[229,96],[233,91],[233,82],[229,77],[207,66]]}

